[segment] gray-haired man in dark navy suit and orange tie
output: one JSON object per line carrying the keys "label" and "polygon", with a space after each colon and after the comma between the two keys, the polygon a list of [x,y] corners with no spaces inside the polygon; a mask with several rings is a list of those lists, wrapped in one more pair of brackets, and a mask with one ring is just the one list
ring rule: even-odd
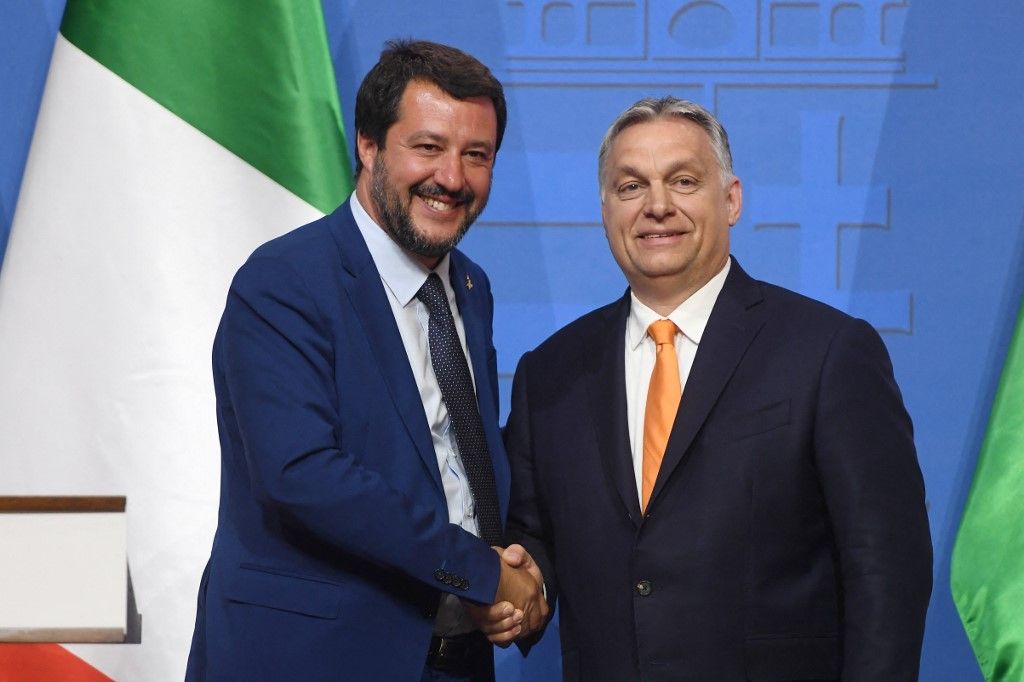
{"label": "gray-haired man in dark navy suit and orange tie", "polygon": [[638,101],[598,174],[629,290],[523,355],[506,429],[564,679],[915,680],[932,547],[882,339],[730,257],[701,106]]}

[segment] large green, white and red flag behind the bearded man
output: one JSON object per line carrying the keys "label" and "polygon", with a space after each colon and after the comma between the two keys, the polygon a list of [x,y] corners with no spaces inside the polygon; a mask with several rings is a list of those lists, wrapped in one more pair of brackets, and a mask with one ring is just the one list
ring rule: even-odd
{"label": "large green, white and red flag behind the bearded man", "polygon": [[318,0],[69,0],[0,269],[0,494],[127,496],[142,644],[0,645],[0,679],[183,677],[228,283],[348,154]]}

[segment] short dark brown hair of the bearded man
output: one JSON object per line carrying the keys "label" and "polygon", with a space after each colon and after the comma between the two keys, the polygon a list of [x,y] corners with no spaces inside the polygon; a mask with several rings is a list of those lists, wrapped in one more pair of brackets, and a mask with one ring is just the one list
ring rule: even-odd
{"label": "short dark brown hair of the bearded man", "polygon": [[[490,70],[475,57],[449,45],[425,40],[389,40],[380,59],[370,70],[355,95],[355,131],[384,147],[388,129],[398,120],[398,105],[410,81],[433,83],[456,99],[487,97],[498,116],[498,139],[502,145],[505,91]],[[355,155],[355,174],[362,170]]]}

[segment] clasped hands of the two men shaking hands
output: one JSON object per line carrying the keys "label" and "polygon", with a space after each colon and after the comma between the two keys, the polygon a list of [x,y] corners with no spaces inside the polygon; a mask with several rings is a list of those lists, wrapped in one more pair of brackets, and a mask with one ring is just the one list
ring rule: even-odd
{"label": "clasped hands of the two men shaking hands", "polygon": [[548,619],[544,576],[521,545],[495,547],[502,558],[502,573],[494,604],[463,600],[463,606],[492,643],[506,647],[538,632]]}

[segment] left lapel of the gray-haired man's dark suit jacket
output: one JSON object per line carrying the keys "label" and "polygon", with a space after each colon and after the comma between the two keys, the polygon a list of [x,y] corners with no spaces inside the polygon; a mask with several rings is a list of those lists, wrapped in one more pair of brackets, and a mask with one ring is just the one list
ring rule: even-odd
{"label": "left lapel of the gray-haired man's dark suit jacket", "polygon": [[598,321],[600,329],[588,336],[587,386],[597,447],[605,472],[634,524],[640,523],[633,455],[626,408],[626,318],[629,292],[610,305]]}

